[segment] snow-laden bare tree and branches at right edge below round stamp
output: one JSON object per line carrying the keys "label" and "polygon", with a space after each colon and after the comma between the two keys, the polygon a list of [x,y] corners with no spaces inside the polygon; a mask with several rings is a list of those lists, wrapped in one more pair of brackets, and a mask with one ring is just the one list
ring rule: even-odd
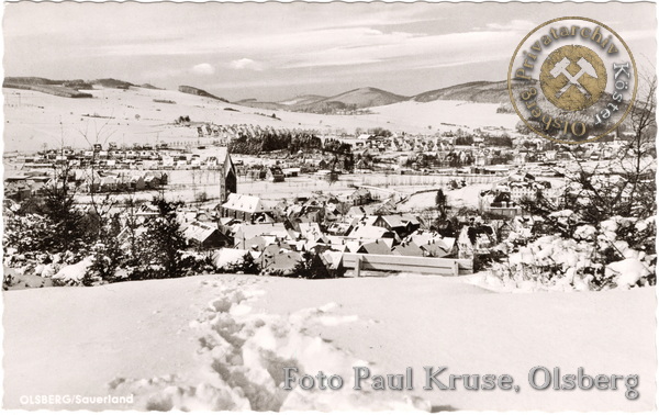
{"label": "snow-laden bare tree and branches at right edge below round stamp", "polygon": [[[650,256],[656,251],[656,227],[649,225],[636,227],[656,215],[657,169],[655,138],[657,134],[656,92],[657,77],[644,77],[638,100],[632,108],[626,122],[627,131],[622,134],[622,146],[611,160],[604,162],[582,162],[576,160],[576,168],[566,171],[566,189],[557,203],[538,198],[533,202],[523,202],[525,210],[545,217],[543,232],[535,234],[559,233],[572,237],[574,231],[583,225],[594,226],[602,232],[601,224],[614,216],[622,216],[615,238],[624,240],[633,249]],[[577,155],[577,149],[571,149]],[[552,217],[557,210],[571,210],[574,214],[567,221]],[[625,258],[619,247],[610,240],[594,238],[594,263],[611,263]],[[607,283],[604,267],[594,270],[601,284]],[[648,281],[655,283],[654,267]],[[602,282],[604,281],[604,282]]]}

